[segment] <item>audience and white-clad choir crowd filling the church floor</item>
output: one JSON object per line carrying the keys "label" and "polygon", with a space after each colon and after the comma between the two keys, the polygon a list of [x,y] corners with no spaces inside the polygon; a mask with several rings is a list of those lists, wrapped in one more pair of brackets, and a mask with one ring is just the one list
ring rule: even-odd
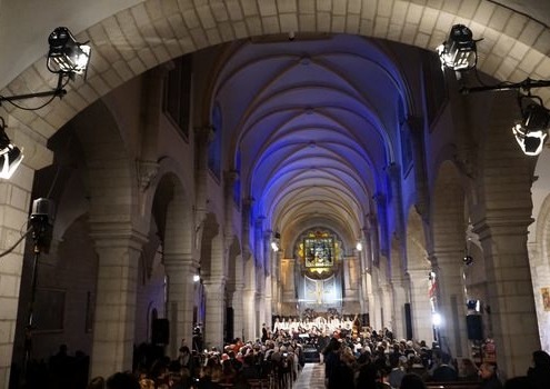
{"label": "audience and white-clad choir crowd filling the church floor", "polygon": [[[261,337],[253,341],[237,338],[208,350],[193,347],[194,340],[189,346],[182,340],[174,360],[163,356],[162,347],[141,345],[136,348],[131,372],[97,377],[86,388],[248,389],[262,382],[263,387],[286,389],[306,363],[304,350],[312,349],[323,366],[327,389],[422,389],[430,382],[457,381],[480,389],[550,388],[550,356],[544,351],[533,352],[532,367],[524,377],[503,380],[494,363],[457,360],[437,343],[396,339],[387,328],[357,331],[351,321],[327,332],[316,325],[307,329],[300,322],[294,322],[296,327],[281,323],[263,325]],[[62,381],[57,383],[52,389],[64,389]]]}

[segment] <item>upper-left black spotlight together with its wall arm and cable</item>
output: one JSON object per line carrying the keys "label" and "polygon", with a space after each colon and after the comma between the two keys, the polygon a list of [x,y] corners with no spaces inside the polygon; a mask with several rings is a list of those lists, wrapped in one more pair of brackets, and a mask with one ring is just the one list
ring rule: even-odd
{"label": "upper-left black spotlight together with its wall arm and cable", "polygon": [[[48,50],[47,68],[52,73],[58,74],[56,89],[26,94],[0,96],[0,104],[2,102],[9,102],[20,109],[38,110],[52,102],[56,97],[62,98],[67,94],[64,87],[77,74],[83,74],[86,78],[91,54],[89,44],[77,42],[66,27],[54,29],[48,38],[48,43],[50,48]],[[22,107],[14,102],[44,97],[50,97],[50,99],[38,107]]]}

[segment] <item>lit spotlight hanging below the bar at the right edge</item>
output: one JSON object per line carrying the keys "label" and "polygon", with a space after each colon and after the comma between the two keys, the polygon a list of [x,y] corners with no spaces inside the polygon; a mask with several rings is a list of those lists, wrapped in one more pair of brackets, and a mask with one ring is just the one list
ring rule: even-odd
{"label": "lit spotlight hanging below the bar at the right edge", "polygon": [[522,116],[521,123],[512,127],[513,136],[526,156],[538,156],[548,137],[549,111],[542,104],[531,102],[522,109]]}

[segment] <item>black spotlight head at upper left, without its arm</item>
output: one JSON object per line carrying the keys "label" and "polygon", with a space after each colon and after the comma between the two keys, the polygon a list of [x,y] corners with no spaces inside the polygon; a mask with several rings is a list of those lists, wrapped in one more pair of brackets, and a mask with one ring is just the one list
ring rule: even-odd
{"label": "black spotlight head at upper left, without its arm", "polygon": [[82,74],[90,61],[90,46],[79,43],[67,27],[58,27],[48,38],[48,70],[52,73]]}

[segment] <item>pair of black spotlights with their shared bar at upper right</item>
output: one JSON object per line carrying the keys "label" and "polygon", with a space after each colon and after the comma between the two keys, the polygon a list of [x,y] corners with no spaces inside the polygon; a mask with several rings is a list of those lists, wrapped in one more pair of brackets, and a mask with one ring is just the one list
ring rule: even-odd
{"label": "pair of black spotlights with their shared bar at upper right", "polygon": [[460,92],[469,94],[472,92],[518,90],[518,101],[521,109],[521,120],[513,126],[512,133],[526,156],[538,156],[548,138],[550,127],[550,113],[543,106],[542,99],[531,94],[533,88],[550,87],[550,80],[531,80],[527,78],[521,82],[500,82],[497,84],[484,84],[479,77],[479,86],[469,87],[461,78],[460,72],[473,69],[478,62],[476,40],[471,30],[463,24],[454,24],[449,38],[437,51],[441,66],[454,70],[457,79],[461,82]]}

